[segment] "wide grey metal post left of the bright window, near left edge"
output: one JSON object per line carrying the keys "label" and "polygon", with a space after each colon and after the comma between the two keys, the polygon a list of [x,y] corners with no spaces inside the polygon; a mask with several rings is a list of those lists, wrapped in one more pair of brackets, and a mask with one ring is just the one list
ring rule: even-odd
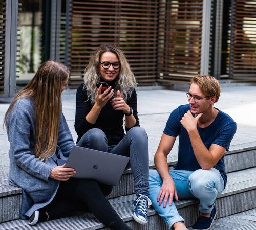
{"label": "wide grey metal post left of the bright window, near left edge", "polygon": [[4,97],[16,93],[18,0],[6,1]]}

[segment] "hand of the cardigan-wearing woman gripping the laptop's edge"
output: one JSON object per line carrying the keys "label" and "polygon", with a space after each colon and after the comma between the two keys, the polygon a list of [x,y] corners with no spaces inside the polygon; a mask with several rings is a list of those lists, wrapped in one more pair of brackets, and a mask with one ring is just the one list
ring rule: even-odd
{"label": "hand of the cardigan-wearing woman gripping the laptop's edge", "polygon": [[65,165],[53,168],[50,177],[59,181],[67,181],[71,176],[74,176],[76,171],[73,168],[65,168]]}

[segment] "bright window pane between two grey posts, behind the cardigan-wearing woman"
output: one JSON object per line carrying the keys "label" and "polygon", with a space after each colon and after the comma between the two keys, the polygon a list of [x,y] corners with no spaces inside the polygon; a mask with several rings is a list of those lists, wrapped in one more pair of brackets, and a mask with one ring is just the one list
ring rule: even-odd
{"label": "bright window pane between two grey posts, behind the cardigan-wearing woman", "polygon": [[42,0],[19,1],[17,85],[26,84],[41,63]]}

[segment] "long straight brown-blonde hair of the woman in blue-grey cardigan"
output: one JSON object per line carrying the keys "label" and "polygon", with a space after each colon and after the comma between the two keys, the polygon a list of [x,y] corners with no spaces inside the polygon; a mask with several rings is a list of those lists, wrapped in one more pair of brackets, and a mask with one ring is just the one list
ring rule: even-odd
{"label": "long straight brown-blonde hair of the woman in blue-grey cardigan", "polygon": [[15,102],[22,98],[31,98],[35,105],[36,144],[34,153],[40,160],[51,157],[58,140],[61,118],[61,86],[69,77],[68,68],[54,60],[44,62],[35,76],[16,95],[4,118],[13,108]]}

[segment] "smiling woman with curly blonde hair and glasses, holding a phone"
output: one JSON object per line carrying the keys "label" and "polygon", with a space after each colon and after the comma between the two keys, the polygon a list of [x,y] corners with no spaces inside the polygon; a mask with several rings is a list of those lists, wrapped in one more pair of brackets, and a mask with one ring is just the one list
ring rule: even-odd
{"label": "smiling woman with curly blonde hair and glasses, holding a phone", "polygon": [[146,224],[151,204],[148,138],[139,127],[135,86],[134,74],[123,52],[115,45],[101,45],[93,53],[84,71],[84,82],[77,89],[75,130],[78,144],[130,157],[126,168],[132,169],[137,195],[133,217]]}

